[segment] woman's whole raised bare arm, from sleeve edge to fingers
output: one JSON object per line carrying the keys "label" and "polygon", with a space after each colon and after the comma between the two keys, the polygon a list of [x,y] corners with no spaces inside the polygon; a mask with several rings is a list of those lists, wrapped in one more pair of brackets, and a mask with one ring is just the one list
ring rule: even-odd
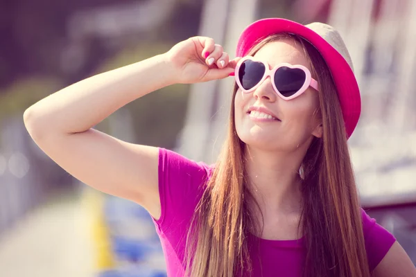
{"label": "woman's whole raised bare arm, from sleeve edge to fingers", "polygon": [[[205,59],[205,52],[211,53]],[[24,123],[39,147],[85,184],[135,201],[160,216],[157,148],[120,141],[92,127],[141,96],[176,82],[225,78],[232,68],[222,48],[194,37],[171,51],[108,71],[40,100],[24,113]],[[224,59],[223,69],[209,66]],[[146,132],[146,130],[143,130]]]}

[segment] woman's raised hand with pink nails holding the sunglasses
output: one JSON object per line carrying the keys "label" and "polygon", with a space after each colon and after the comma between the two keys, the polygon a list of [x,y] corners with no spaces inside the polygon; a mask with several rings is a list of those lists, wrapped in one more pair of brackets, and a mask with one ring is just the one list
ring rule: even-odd
{"label": "woman's raised hand with pink nails holding the sunglasses", "polygon": [[229,60],[223,46],[210,37],[191,37],[179,42],[165,53],[173,66],[177,83],[191,84],[222,79],[234,73],[238,58]]}

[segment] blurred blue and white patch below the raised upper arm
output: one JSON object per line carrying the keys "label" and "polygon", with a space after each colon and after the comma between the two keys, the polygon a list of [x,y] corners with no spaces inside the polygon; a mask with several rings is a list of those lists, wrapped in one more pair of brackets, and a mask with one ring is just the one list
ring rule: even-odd
{"label": "blurred blue and white patch below the raised upper arm", "polygon": [[106,196],[105,222],[116,268],[99,277],[166,277],[164,256],[149,213],[134,202]]}

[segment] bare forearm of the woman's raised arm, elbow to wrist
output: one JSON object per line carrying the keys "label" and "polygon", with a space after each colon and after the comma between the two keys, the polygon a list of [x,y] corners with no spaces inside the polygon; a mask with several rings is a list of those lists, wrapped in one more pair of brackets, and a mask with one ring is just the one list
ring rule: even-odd
{"label": "bare forearm of the woman's raised arm, elbow to wrist", "polygon": [[173,84],[169,65],[158,55],[87,78],[27,109],[25,122],[37,124],[28,125],[37,139],[45,128],[60,134],[85,132],[128,102]]}

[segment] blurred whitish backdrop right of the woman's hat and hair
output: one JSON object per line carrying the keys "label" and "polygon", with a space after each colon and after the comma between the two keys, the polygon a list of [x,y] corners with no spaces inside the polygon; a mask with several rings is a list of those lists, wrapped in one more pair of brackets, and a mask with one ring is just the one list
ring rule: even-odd
{"label": "blurred whitish backdrop right of the woman's hat and hair", "polygon": [[362,115],[350,139],[363,203],[416,199],[416,1],[334,0],[329,24],[352,55]]}

